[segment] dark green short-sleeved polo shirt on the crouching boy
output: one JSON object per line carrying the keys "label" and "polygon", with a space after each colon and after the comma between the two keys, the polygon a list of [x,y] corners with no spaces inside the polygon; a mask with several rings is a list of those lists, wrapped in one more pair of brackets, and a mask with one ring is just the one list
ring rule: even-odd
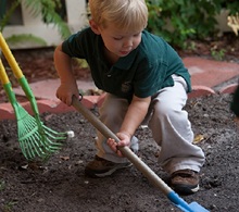
{"label": "dark green short-sleeved polo shirt on the crouching boy", "polygon": [[91,28],[72,35],[62,45],[71,58],[86,59],[96,86],[121,98],[146,98],[173,86],[173,74],[183,76],[191,90],[190,75],[176,51],[162,38],[142,32],[140,45],[126,57],[109,65],[101,36]]}

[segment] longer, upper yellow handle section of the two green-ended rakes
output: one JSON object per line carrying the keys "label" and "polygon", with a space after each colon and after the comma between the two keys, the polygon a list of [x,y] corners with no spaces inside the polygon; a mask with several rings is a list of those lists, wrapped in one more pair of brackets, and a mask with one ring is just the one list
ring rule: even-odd
{"label": "longer, upper yellow handle section of the two green-ended rakes", "polygon": [[0,48],[7,59],[7,61],[9,62],[9,65],[11,66],[15,77],[17,79],[23,77],[23,72],[21,71],[15,58],[13,57],[8,43],[5,42],[5,39],[2,36],[2,33],[0,33]]}

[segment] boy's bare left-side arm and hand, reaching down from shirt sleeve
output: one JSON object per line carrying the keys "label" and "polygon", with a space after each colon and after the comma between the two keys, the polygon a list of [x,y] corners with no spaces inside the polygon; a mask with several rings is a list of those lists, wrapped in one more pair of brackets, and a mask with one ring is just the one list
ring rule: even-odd
{"label": "boy's bare left-side arm and hand, reaching down from shirt sleeve", "polygon": [[78,97],[78,88],[72,72],[72,59],[62,51],[62,45],[58,46],[54,51],[54,65],[61,79],[56,97],[67,105],[71,105],[72,97]]}

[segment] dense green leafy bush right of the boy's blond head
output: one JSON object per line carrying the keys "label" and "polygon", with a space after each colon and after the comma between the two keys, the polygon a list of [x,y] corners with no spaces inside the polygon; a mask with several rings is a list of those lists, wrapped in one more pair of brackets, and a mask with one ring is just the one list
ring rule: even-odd
{"label": "dense green leafy bush right of the boy's blond head", "polygon": [[186,40],[216,36],[215,16],[223,9],[236,13],[239,1],[225,0],[147,0],[148,29],[164,37],[169,43],[187,48]]}

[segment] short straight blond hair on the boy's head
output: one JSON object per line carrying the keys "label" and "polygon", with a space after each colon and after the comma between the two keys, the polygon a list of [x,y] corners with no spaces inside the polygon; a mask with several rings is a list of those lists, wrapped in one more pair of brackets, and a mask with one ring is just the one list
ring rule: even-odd
{"label": "short straight blond hair on the boy's head", "polygon": [[101,27],[108,23],[127,30],[141,30],[148,22],[144,0],[89,0],[91,18]]}

